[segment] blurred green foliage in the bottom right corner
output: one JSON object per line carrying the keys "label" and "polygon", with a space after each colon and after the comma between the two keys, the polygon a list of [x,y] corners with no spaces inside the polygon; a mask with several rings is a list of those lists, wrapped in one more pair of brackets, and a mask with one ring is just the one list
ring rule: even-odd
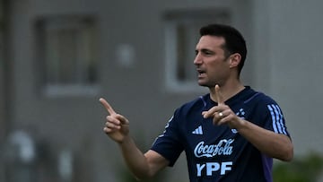
{"label": "blurred green foliage in the bottom right corner", "polygon": [[323,156],[310,152],[291,162],[276,163],[273,169],[275,182],[315,182],[322,174]]}

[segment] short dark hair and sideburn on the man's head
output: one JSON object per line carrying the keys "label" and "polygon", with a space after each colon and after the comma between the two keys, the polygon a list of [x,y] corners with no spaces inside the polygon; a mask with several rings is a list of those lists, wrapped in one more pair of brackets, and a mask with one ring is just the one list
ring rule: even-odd
{"label": "short dark hair and sideburn on the man's head", "polygon": [[223,37],[225,40],[224,54],[230,56],[234,53],[239,53],[241,56],[240,64],[238,65],[238,74],[240,74],[247,56],[246,41],[239,30],[225,24],[209,24],[200,29],[200,35],[211,35]]}

